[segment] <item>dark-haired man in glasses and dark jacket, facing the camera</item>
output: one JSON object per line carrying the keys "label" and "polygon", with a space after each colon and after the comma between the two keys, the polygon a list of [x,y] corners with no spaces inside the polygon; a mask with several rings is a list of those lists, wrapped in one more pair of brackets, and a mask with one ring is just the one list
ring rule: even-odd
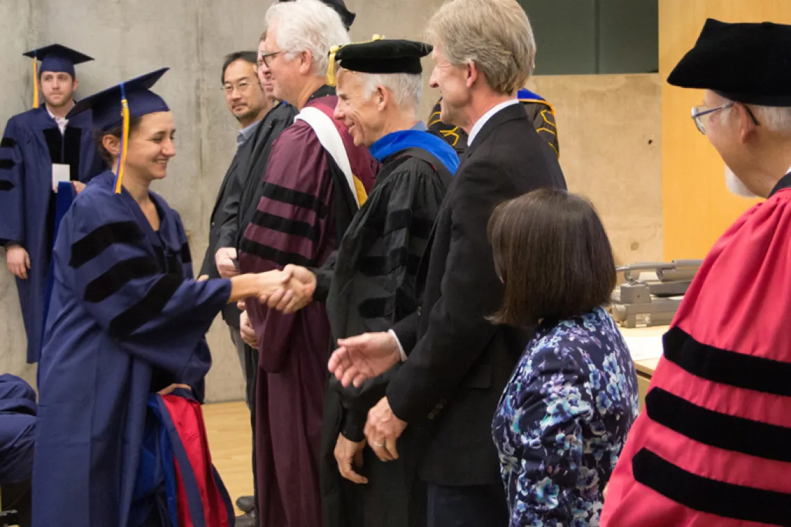
{"label": "dark-haired man in glasses and dark jacket, facing the camera", "polygon": [[[203,258],[200,278],[227,278],[238,274],[235,265],[237,248],[241,233],[255,213],[261,196],[269,151],[274,140],[296,115],[290,105],[274,99],[271,76],[258,68],[258,62],[256,51],[241,51],[228,55],[222,67],[225,101],[239,121],[241,130],[237,136],[236,155],[225,173],[211,213],[209,247]],[[252,410],[258,352],[240,336],[240,313],[237,306],[231,304],[223,309],[222,317],[237,348],[244,373],[245,399]],[[255,457],[255,452],[253,455]],[[253,469],[255,471],[255,459]],[[255,499],[244,496],[237,501],[237,506],[248,513],[244,518],[237,518],[237,525],[256,525],[255,513],[252,512]]]}

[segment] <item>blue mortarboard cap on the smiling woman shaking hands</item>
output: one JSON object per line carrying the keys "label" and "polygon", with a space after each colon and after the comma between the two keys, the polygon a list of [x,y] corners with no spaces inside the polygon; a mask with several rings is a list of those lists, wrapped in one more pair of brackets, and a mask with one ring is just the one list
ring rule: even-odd
{"label": "blue mortarboard cap on the smiling woman shaking hands", "polygon": [[74,105],[67,119],[82,111],[93,110],[93,129],[106,132],[112,130],[123,122],[121,115],[121,101],[126,96],[129,105],[129,117],[140,117],[146,114],[153,114],[157,111],[169,111],[168,104],[160,96],[150,91],[153,85],[157,84],[160,77],[170,68],[146,73],[140,77],[135,77],[131,81],[123,82],[112,88],[107,88],[101,92],[94,93],[92,96]]}

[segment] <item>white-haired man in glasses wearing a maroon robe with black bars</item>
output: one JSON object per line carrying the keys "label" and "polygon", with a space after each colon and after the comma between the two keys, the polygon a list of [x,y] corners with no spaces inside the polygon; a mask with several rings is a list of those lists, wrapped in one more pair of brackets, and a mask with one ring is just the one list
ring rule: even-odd
{"label": "white-haired man in glasses wearing a maroon robe with black bars", "polygon": [[[377,162],[333,119],[325,85],[331,47],[349,42],[338,13],[318,0],[279,2],[267,11],[259,45],[274,97],[297,121],[274,142],[263,198],[242,236],[241,273],[320,266],[365,201]],[[321,525],[320,430],[329,324],[324,306],[297,314],[247,303],[259,349],[255,395],[256,480],[261,527]]]}

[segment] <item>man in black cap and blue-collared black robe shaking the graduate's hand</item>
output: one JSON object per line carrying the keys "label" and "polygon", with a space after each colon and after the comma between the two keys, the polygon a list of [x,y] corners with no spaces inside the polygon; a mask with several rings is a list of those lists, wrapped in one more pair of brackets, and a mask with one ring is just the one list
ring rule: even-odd
{"label": "man in black cap and blue-collared black robe shaking the graduate's hand", "polygon": [[[425,43],[373,40],[348,44],[335,53],[340,67],[335,117],[346,124],[354,144],[368,147],[382,168],[335,257],[321,269],[286,268],[315,288],[313,299],[326,303],[335,339],[386,331],[417,305],[418,262],[459,164],[452,147],[430,134],[418,118],[420,59],[430,52]],[[288,303],[286,292],[270,298],[272,307],[286,309]],[[363,390],[343,389],[337,381],[327,390],[324,527],[424,525],[425,490],[414,487],[412,470],[414,437],[403,437],[402,457],[388,463],[365,447],[365,420],[386,384],[385,375]]]}

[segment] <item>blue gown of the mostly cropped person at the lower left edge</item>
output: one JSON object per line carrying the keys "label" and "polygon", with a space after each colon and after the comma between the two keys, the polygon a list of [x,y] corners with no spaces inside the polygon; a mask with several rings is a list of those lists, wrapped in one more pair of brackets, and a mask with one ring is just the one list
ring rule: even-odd
{"label": "blue gown of the mostly cropped person at the lower left edge", "polygon": [[36,392],[16,375],[0,375],[0,486],[30,479]]}

